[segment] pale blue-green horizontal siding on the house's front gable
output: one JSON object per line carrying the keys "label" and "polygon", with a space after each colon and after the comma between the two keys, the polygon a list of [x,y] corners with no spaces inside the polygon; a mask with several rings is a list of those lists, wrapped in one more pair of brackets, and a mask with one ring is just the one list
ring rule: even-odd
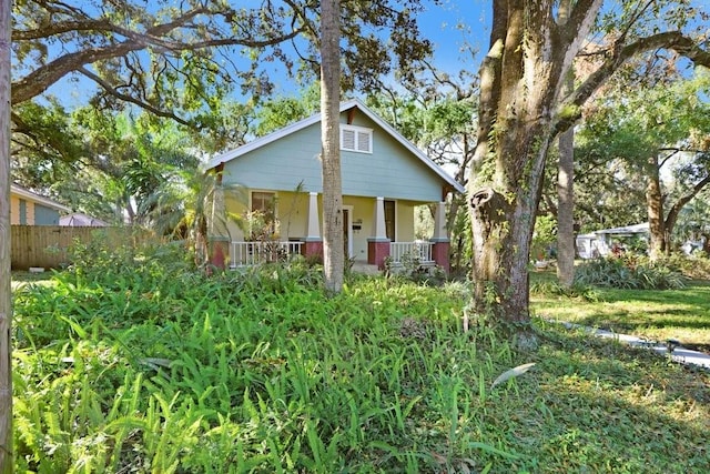
{"label": "pale blue-green horizontal siding on the house's front gable", "polygon": [[[341,115],[345,123],[346,113]],[[354,125],[373,129],[373,153],[342,152],[343,194],[435,202],[442,179],[364,114]],[[321,124],[315,123],[225,163],[224,181],[251,189],[322,192]]]}

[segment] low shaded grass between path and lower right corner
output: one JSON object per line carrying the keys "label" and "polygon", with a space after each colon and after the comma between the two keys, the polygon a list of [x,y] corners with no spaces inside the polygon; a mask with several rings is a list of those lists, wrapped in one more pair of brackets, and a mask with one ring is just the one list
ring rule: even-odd
{"label": "low shaded grass between path and lower right corner", "polygon": [[518,467],[710,472],[709,371],[555,325],[541,324],[540,335],[535,370],[498,394],[527,402],[497,414],[514,420],[510,442],[525,452]]}

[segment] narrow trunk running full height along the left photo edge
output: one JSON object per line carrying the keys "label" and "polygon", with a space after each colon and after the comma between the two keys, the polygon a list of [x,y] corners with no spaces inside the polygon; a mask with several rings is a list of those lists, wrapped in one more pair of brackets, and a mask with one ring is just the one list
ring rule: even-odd
{"label": "narrow trunk running full height along the left photo edge", "polygon": [[13,471],[12,291],[10,286],[10,18],[12,2],[0,0],[0,473]]}

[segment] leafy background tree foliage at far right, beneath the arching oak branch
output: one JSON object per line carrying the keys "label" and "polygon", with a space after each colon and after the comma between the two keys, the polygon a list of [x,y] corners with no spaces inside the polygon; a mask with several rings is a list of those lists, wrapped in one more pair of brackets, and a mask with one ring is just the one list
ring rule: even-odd
{"label": "leafy background tree foliage at far right, beneath the arching oak branch", "polygon": [[709,75],[700,69],[691,78],[663,73],[646,78],[650,83],[637,78],[641,83],[633,93],[628,81],[610,85],[576,134],[575,200],[577,219],[589,223],[586,230],[648,220],[645,192],[653,177],[661,178],[667,212],[677,203],[688,205],[686,200],[707,185],[702,150],[710,114],[701,98]]}

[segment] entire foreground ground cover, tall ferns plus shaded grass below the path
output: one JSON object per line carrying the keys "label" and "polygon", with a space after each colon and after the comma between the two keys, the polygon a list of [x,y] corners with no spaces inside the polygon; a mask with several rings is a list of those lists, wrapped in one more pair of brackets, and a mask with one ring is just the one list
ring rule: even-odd
{"label": "entire foreground ground cover, tall ferns plus shaded grass below the path", "polygon": [[18,471],[710,470],[707,373],[545,323],[517,354],[462,332],[462,284],[326,299],[305,266],[204,278],[161,252],[17,292]]}

